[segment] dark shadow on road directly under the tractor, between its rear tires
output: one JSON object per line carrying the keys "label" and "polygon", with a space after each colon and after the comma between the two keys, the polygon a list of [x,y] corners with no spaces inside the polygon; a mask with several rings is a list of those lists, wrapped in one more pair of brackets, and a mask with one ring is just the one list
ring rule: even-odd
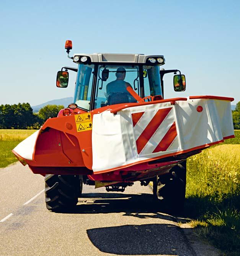
{"label": "dark shadow on road directly under the tractor, between its rear tires", "polygon": [[[137,218],[161,218],[173,220],[165,215],[167,210],[157,203],[151,194],[86,193],[77,206],[69,209],[72,214],[124,213],[123,216]],[[159,213],[162,212],[162,213]]]}

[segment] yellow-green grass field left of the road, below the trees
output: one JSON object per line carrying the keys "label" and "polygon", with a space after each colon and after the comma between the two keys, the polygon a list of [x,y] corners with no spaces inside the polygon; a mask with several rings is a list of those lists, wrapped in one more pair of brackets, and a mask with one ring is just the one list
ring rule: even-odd
{"label": "yellow-green grass field left of the road, below the trees", "polygon": [[0,130],[0,168],[18,161],[11,150],[35,131],[36,130]]}

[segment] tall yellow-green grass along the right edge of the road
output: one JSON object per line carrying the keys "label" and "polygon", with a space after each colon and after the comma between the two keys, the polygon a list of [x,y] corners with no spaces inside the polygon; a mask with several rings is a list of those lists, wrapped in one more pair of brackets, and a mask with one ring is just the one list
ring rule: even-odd
{"label": "tall yellow-green grass along the right edge of the road", "polygon": [[223,255],[240,255],[240,131],[187,160],[185,215]]}

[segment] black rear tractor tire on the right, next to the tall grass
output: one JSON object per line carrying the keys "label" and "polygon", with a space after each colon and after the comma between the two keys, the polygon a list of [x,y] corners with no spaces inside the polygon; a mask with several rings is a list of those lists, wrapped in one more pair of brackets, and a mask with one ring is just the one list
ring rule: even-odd
{"label": "black rear tractor tire on the right, next to the tall grass", "polygon": [[153,196],[167,212],[183,212],[186,194],[186,161],[176,165],[170,173],[157,176],[153,181]]}

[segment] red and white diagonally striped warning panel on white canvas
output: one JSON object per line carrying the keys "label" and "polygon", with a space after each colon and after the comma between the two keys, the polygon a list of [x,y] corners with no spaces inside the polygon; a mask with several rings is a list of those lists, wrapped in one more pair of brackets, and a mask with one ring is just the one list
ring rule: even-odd
{"label": "red and white diagonally striped warning panel on white canvas", "polygon": [[137,153],[147,155],[167,151],[177,136],[173,108],[132,113]]}

